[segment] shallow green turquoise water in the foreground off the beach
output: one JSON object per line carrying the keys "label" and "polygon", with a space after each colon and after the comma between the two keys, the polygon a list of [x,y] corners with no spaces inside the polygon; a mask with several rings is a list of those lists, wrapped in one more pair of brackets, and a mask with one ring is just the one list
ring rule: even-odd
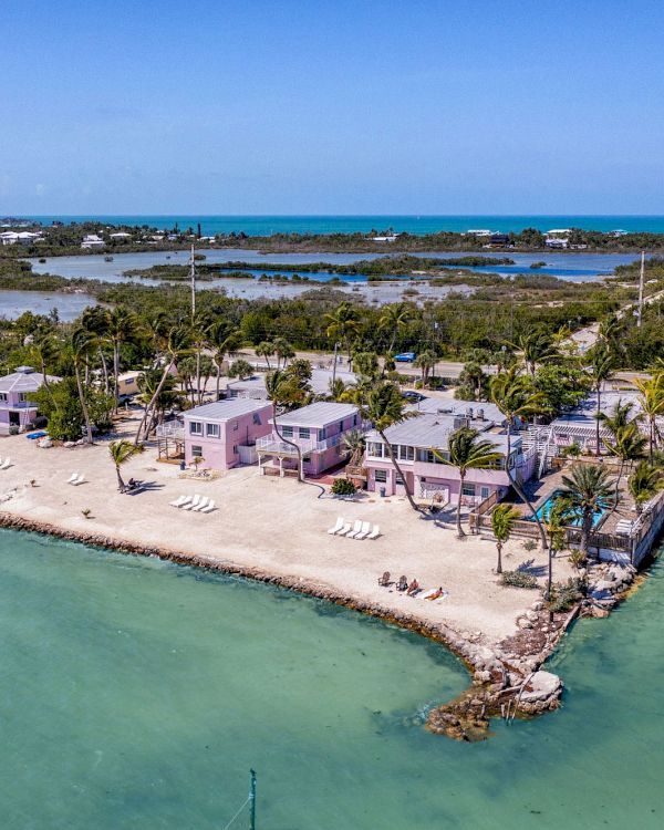
{"label": "shallow green turquoise water in the foreground off the beach", "polygon": [[663,611],[657,564],[566,640],[561,710],[468,746],[421,726],[467,679],[435,644],[264,585],[0,531],[0,824],[219,830],[255,766],[260,830],[654,830]]}

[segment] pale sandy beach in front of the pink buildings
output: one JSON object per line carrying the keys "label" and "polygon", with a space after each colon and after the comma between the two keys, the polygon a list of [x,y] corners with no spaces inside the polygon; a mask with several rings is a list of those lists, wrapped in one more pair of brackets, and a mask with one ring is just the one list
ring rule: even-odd
{"label": "pale sandy beach in front of the pink buildings", "polygon": [[[126,427],[133,429],[134,423]],[[498,584],[490,541],[459,541],[452,527],[419,518],[404,499],[365,494],[346,502],[329,492],[318,498],[320,487],[259,476],[256,467],[230,470],[212,481],[184,480],[177,466],[155,460],[154,448],[123,467],[123,476],[152,481],[155,489],[129,496],[117,491],[106,443],[41,449],[23,435],[11,436],[0,439],[0,456],[14,461],[0,471],[0,511],[300,579],[425,623],[481,632],[487,644],[512,634],[517,615],[538,599],[535,591]],[[83,473],[87,483],[66,485],[73,471]],[[214,498],[219,509],[201,515],[168,505],[180,494],[197,492]],[[85,509],[91,510],[89,519]],[[376,522],[382,536],[375,541],[330,537],[325,531],[338,516]],[[533,557],[543,573],[541,551],[526,552],[515,540],[504,551],[504,567],[513,569]],[[554,569],[554,579],[570,573],[567,560],[557,561]],[[383,571],[393,579],[402,573],[416,578],[425,590],[442,585],[449,593],[436,602],[405,596],[378,587]]]}

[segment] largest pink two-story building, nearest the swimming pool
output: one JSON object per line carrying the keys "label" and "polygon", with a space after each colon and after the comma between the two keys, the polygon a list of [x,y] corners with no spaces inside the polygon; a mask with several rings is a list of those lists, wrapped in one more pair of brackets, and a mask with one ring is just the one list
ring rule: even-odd
{"label": "largest pink two-story building, nearest the swimming pool", "polygon": [[[507,435],[480,432],[479,439],[495,444],[497,452],[504,454],[504,458],[490,469],[469,469],[463,490],[458,469],[436,458],[434,449],[443,457],[448,457],[449,436],[466,424],[467,419],[455,416],[425,414],[385,430],[406,484],[416,499],[429,500],[437,496],[444,504],[456,505],[460,498],[461,504],[473,506],[484,501],[495,491],[498,492],[498,498],[507,494],[510,487],[505,463]],[[475,427],[476,424],[470,426]],[[520,480],[530,478],[535,470],[535,453],[528,456],[523,454],[521,438],[512,435],[508,461],[512,477],[519,476]],[[377,432],[371,432],[366,436],[364,466],[370,490],[384,490],[386,496],[405,495],[404,481],[396,474],[387,448]]]}

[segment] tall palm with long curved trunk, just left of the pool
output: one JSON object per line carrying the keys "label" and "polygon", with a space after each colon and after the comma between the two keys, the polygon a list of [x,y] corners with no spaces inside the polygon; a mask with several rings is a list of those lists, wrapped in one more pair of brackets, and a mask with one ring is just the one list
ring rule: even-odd
{"label": "tall palm with long curved trunk, just left of the pool", "polygon": [[508,369],[507,372],[494,375],[491,378],[491,402],[496,404],[498,409],[500,409],[507,422],[507,452],[505,464],[507,477],[523,504],[527,505],[530,510],[530,515],[539,530],[542,550],[547,550],[547,531],[543,528],[537,510],[521,487],[516,470],[512,476],[511,465],[512,426],[517,418],[527,421],[535,415],[543,414],[546,412],[542,405],[543,397],[544,396],[541,392],[532,391],[531,380],[526,377],[526,375],[519,374],[519,370],[516,366]]}

